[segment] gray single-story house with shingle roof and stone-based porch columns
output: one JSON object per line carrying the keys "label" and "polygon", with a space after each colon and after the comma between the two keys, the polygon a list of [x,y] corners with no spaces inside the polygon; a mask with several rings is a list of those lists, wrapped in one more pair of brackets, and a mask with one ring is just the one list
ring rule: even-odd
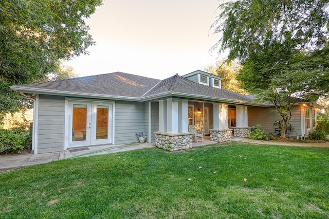
{"label": "gray single-story house with shingle roof and stone-based porch columns", "polygon": [[[114,72],[11,88],[34,101],[35,154],[137,142],[141,132],[158,148],[184,150],[193,147],[191,124],[216,142],[245,137],[255,124],[279,129],[273,106],[223,89],[221,80],[201,70],[165,80]],[[316,124],[314,103],[296,103],[293,113],[290,135],[306,135]]]}

